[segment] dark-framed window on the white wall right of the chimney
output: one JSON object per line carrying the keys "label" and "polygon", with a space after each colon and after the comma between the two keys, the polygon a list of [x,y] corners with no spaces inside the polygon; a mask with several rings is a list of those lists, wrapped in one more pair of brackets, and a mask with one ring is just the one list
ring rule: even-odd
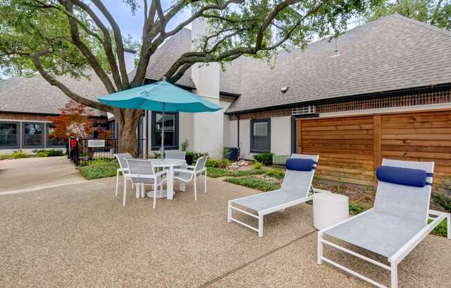
{"label": "dark-framed window on the white wall right of the chimney", "polygon": [[250,120],[250,152],[270,152],[271,120]]}

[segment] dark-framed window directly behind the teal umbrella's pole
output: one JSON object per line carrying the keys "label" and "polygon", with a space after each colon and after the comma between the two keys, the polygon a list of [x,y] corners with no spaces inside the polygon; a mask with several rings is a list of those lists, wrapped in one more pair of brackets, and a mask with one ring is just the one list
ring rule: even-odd
{"label": "dark-framed window directly behind the teal umbrella's pole", "polygon": [[[163,127],[163,114],[152,111],[152,150],[161,147],[161,128]],[[165,149],[178,149],[178,112],[165,113]]]}

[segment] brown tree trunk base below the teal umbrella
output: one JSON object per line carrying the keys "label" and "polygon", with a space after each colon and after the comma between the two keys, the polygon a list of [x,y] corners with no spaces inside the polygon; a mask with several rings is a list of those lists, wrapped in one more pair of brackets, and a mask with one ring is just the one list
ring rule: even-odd
{"label": "brown tree trunk base below the teal umbrella", "polygon": [[138,141],[136,129],[142,114],[139,110],[114,109],[114,116],[118,123],[118,152],[129,152],[138,157]]}

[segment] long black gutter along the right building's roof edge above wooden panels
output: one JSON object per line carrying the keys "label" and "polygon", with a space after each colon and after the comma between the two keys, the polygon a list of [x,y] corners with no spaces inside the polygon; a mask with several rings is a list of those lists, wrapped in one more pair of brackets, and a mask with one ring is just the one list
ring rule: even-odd
{"label": "long black gutter along the right building's roof edge above wooden panels", "polygon": [[238,111],[226,111],[226,112],[224,112],[224,114],[236,115],[236,114],[263,112],[263,111],[273,111],[275,109],[293,108],[293,107],[297,107],[299,105],[319,105],[324,102],[338,102],[338,101],[344,101],[344,100],[360,100],[361,98],[365,98],[365,97],[395,96],[395,95],[404,94],[404,93],[426,92],[426,91],[430,91],[430,90],[440,90],[440,89],[451,89],[451,83],[430,84],[427,86],[407,88],[407,89],[380,91],[380,92],[376,92],[376,93],[357,94],[357,95],[353,95],[353,96],[338,96],[338,97],[326,98],[326,99],[320,99],[320,100],[294,102],[294,103],[289,103],[289,104],[284,104],[284,105],[274,105],[274,106],[269,106],[269,107],[244,109],[244,110],[238,110]]}

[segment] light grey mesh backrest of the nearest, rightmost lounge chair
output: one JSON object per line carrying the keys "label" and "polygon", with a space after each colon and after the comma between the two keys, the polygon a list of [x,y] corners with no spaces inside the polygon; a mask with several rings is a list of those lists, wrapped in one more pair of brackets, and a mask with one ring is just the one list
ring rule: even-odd
{"label": "light grey mesh backrest of the nearest, rightmost lounge chair", "polygon": [[[431,174],[434,172],[434,162],[383,159],[382,165],[419,169]],[[432,183],[432,177],[427,177],[427,182]],[[430,195],[430,185],[415,187],[378,181],[374,210],[426,224]]]}

